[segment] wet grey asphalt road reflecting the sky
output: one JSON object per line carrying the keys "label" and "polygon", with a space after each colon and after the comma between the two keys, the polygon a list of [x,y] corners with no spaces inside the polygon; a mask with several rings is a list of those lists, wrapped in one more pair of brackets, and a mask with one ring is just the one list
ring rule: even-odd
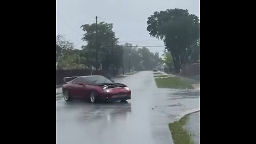
{"label": "wet grey asphalt road reflecting the sky", "polygon": [[132,90],[127,103],[56,98],[56,143],[173,143],[168,123],[200,108],[198,90],[158,89],[152,71],[115,82]]}

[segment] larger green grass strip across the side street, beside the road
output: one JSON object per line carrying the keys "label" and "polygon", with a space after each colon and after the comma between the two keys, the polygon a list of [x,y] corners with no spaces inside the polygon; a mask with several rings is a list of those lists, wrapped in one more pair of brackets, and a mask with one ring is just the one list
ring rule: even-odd
{"label": "larger green grass strip across the side street, beside the road", "polygon": [[155,78],[155,81],[158,88],[194,89],[190,81],[180,77]]}

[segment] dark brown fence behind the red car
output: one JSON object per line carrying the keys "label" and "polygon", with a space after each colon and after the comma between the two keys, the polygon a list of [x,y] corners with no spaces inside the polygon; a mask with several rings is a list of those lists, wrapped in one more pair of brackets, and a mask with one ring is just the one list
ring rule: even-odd
{"label": "dark brown fence behind the red car", "polygon": [[[56,85],[63,84],[64,77],[91,75],[91,69],[56,69]],[[92,75],[102,75],[108,78],[118,75],[118,70],[93,70]]]}

